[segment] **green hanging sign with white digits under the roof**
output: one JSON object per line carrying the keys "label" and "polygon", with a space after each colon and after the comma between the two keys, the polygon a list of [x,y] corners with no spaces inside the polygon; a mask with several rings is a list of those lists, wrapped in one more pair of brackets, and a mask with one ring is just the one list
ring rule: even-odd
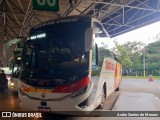
{"label": "green hanging sign with white digits under the roof", "polygon": [[59,0],[32,0],[34,10],[59,11]]}

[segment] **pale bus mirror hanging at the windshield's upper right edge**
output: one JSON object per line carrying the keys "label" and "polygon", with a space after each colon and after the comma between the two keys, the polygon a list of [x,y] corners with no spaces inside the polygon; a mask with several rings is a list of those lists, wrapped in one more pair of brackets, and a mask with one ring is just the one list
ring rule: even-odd
{"label": "pale bus mirror hanging at the windshield's upper right edge", "polygon": [[93,28],[88,28],[85,31],[85,51],[89,51],[93,46]]}

